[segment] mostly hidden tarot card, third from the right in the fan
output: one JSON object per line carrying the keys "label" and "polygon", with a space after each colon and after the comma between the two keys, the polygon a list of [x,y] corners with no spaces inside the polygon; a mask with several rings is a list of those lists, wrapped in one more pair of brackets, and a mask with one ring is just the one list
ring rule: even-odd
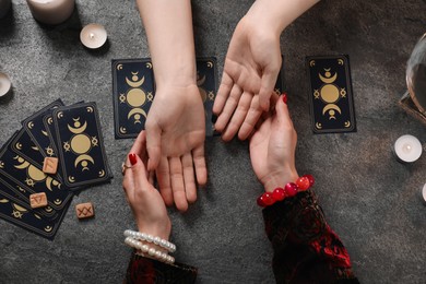
{"label": "mostly hidden tarot card, third from the right in the fan", "polygon": [[51,145],[49,133],[43,123],[43,118],[46,115],[51,114],[51,111],[59,106],[63,106],[63,103],[62,100],[57,99],[22,121],[24,129],[44,157],[56,157],[57,155]]}

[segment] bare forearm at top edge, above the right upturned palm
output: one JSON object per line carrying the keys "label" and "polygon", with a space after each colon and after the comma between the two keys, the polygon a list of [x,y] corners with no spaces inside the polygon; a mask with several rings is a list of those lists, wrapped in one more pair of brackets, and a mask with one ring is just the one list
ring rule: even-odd
{"label": "bare forearm at top edge, above the right upturned palm", "polygon": [[319,0],[257,0],[247,15],[280,35],[286,26]]}

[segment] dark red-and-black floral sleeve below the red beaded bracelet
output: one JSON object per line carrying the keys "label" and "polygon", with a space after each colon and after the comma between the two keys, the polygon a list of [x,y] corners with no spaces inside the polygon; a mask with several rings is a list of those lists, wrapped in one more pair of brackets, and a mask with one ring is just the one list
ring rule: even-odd
{"label": "dark red-and-black floral sleeve below the red beaded bracelet", "polygon": [[313,191],[265,208],[263,218],[274,250],[272,267],[277,283],[359,283]]}

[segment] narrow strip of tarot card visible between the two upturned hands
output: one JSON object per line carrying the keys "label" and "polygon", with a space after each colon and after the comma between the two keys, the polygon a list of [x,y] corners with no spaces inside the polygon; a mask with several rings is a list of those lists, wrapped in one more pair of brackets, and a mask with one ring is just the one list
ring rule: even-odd
{"label": "narrow strip of tarot card visible between the two upturned hands", "polygon": [[197,85],[204,104],[205,135],[213,137],[217,133],[213,123],[213,103],[217,94],[217,67],[216,58],[197,59]]}

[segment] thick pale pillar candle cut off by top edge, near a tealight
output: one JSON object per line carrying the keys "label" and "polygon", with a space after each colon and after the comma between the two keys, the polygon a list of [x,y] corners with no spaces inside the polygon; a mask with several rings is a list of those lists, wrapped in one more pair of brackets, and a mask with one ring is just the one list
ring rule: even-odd
{"label": "thick pale pillar candle cut off by top edge, near a tealight", "polygon": [[57,25],[69,19],[74,11],[74,0],[26,0],[34,19]]}

